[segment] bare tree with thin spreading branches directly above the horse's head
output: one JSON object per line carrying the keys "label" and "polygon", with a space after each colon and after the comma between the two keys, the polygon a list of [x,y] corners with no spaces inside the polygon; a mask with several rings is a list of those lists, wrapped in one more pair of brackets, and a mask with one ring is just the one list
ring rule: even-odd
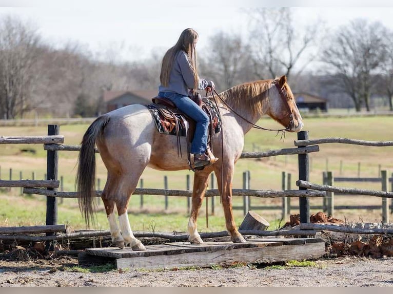
{"label": "bare tree with thin spreading branches directly above the horse's head", "polygon": [[[282,74],[289,77],[306,50],[316,45],[321,23],[311,24],[301,33],[293,25],[290,8],[258,8],[248,11],[248,14],[251,17],[250,45],[256,74],[260,78]],[[309,53],[299,72],[314,58],[315,53]],[[267,74],[270,76],[266,77]]]}

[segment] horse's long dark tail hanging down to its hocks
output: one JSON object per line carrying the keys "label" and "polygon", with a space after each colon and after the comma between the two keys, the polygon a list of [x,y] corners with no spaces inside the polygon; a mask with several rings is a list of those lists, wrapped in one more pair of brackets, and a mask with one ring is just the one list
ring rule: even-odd
{"label": "horse's long dark tail hanging down to its hocks", "polygon": [[83,136],[81,151],[78,156],[75,185],[79,208],[85,218],[87,227],[90,225],[90,221],[94,223],[92,215],[94,213],[93,199],[95,197],[95,140],[102,135],[109,119],[109,116],[103,115],[90,124]]}

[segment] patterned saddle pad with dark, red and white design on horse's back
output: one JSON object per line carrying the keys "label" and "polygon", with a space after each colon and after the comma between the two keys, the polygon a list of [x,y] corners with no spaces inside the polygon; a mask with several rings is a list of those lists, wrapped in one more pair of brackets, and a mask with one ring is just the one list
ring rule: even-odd
{"label": "patterned saddle pad with dark, red and white design on horse's back", "polygon": [[[173,109],[162,104],[154,103],[144,104],[144,106],[150,111],[155,126],[161,134],[186,136],[186,126],[189,125],[189,134],[192,138],[193,131],[195,130],[195,121],[186,116],[179,109]],[[217,107],[208,98],[202,98],[201,107],[210,118],[209,130],[214,134],[219,133],[222,127],[222,121]]]}

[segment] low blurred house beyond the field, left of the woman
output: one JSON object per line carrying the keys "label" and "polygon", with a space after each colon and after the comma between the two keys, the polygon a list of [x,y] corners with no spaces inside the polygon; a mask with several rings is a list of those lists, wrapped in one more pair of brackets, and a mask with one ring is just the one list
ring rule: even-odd
{"label": "low blurred house beyond the field, left of the woman", "polygon": [[158,90],[141,91],[105,91],[103,99],[106,104],[106,111],[130,105],[130,104],[149,104],[151,98],[157,96]]}

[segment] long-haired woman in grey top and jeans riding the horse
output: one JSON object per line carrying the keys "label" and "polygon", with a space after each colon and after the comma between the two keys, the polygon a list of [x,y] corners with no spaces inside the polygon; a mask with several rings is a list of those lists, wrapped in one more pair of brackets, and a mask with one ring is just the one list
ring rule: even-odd
{"label": "long-haired woman in grey top and jeans riding the horse", "polygon": [[194,166],[201,167],[214,163],[218,158],[207,150],[209,117],[188,97],[191,89],[214,89],[212,81],[198,76],[195,52],[197,41],[198,33],[193,29],[185,29],[178,42],[165,53],[161,64],[159,96],[171,100],[197,123],[190,153],[194,156]]}

